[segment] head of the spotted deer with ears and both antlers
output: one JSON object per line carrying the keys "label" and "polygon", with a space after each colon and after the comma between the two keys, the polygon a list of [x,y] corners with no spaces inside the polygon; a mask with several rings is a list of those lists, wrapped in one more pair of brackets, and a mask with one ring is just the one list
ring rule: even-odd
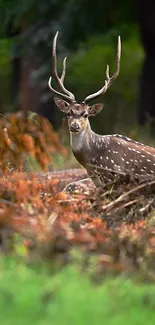
{"label": "head of the spotted deer with ears and both antlers", "polygon": [[75,100],[75,96],[64,86],[64,78],[66,73],[66,57],[63,60],[63,70],[62,75],[59,78],[57,73],[57,58],[56,58],[56,44],[57,44],[58,32],[56,33],[53,40],[53,77],[58,83],[59,88],[62,92],[55,90],[52,85],[52,77],[49,78],[49,88],[56,95],[54,97],[57,107],[67,115],[69,130],[72,133],[79,133],[86,129],[88,124],[89,116],[95,116],[98,114],[102,108],[103,104],[98,103],[90,106],[88,103],[91,100],[98,98],[101,95],[104,95],[107,89],[110,87],[112,82],[117,78],[120,70],[120,57],[121,57],[121,40],[120,36],[118,37],[118,47],[117,47],[117,68],[116,72],[112,77],[109,76],[109,66],[107,65],[106,69],[106,80],[104,86],[97,92],[87,96],[82,103],[78,104]]}

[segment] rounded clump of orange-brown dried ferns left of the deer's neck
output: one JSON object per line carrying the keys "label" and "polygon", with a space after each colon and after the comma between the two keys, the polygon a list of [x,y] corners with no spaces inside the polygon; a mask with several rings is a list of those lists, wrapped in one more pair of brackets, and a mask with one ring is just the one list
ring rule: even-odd
{"label": "rounded clump of orange-brown dried ferns left of the deer's neck", "polygon": [[47,171],[53,156],[65,157],[68,150],[46,118],[32,113],[17,112],[0,119],[0,170],[23,171],[25,160],[31,156]]}

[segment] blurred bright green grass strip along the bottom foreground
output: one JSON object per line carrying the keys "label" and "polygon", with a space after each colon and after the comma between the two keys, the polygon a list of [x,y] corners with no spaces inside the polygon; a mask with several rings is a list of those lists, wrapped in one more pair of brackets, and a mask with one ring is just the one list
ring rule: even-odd
{"label": "blurred bright green grass strip along the bottom foreground", "polygon": [[13,260],[0,263],[0,323],[153,325],[155,285],[123,277],[94,285],[69,266],[57,275]]}

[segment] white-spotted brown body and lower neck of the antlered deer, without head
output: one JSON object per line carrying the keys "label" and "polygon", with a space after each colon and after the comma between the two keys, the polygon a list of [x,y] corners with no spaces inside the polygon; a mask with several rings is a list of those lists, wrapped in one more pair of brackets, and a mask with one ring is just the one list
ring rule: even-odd
{"label": "white-spotted brown body and lower neck of the antlered deer, without head", "polygon": [[75,158],[96,185],[113,180],[119,174],[155,176],[153,147],[119,134],[97,135],[90,126],[89,131],[80,136],[71,134],[70,138]]}

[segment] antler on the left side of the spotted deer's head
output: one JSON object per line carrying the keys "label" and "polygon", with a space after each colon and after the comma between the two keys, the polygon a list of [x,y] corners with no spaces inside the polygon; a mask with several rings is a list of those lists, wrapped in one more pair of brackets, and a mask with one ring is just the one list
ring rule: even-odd
{"label": "antler on the left side of the spotted deer's head", "polygon": [[[57,45],[57,38],[58,38],[58,31],[55,34],[54,40],[53,40],[53,77],[55,78],[55,80],[57,81],[58,85],[60,86],[61,90],[63,91],[64,94],[68,95],[67,99],[75,101],[75,96],[65,88],[63,82],[64,82],[64,78],[65,78],[65,72],[66,72],[66,58],[63,60],[63,71],[62,71],[62,75],[61,78],[59,78],[58,73],[57,73],[57,57],[56,57],[56,45]],[[51,77],[50,77],[51,78]],[[51,84],[51,79],[50,79],[50,84]],[[53,91],[53,87],[50,89]],[[59,92],[57,92],[58,94]],[[61,94],[61,95],[64,95]],[[60,95],[60,93],[59,93]],[[61,96],[63,97],[63,96]]]}

